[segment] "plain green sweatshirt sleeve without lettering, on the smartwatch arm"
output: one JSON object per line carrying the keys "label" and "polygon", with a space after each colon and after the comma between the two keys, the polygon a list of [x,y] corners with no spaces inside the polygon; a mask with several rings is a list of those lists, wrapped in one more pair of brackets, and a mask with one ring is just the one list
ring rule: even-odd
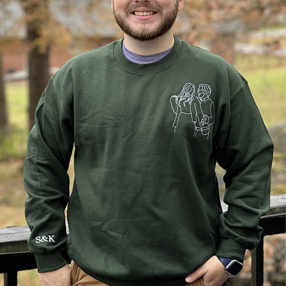
{"label": "plain green sweatshirt sleeve without lettering, on the smartwatch arm", "polygon": [[221,214],[218,256],[243,261],[246,249],[258,245],[259,220],[270,208],[273,144],[245,83],[230,100],[230,116],[216,147],[225,170],[228,211]]}

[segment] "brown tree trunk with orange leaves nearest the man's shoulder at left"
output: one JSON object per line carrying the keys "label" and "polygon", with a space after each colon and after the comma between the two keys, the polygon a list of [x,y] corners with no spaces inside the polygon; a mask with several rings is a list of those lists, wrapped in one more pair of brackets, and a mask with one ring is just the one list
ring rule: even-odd
{"label": "brown tree trunk with orange leaves nearest the man's shoulder at left", "polygon": [[[29,72],[29,127],[34,126],[34,112],[41,94],[50,80],[49,59],[53,43],[67,45],[71,41],[71,32],[60,25],[51,16],[50,7],[56,0],[20,0],[25,11],[25,23],[28,34],[28,72]],[[59,3],[59,2],[58,2]],[[88,13],[94,9],[102,9],[100,1],[61,1],[59,9],[68,12],[71,7],[80,12]],[[84,5],[85,4],[85,5]],[[88,4],[88,5],[86,5]],[[100,13],[99,13],[100,14]]]}

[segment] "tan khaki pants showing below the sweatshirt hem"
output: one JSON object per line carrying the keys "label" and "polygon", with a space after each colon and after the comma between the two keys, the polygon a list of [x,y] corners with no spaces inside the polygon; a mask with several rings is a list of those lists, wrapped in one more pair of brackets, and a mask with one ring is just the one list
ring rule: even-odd
{"label": "tan khaki pants showing below the sweatshirt hem", "polygon": [[[87,275],[83,270],[72,261],[72,286],[104,286],[107,284],[96,280],[95,278]],[[199,279],[193,283],[188,284],[190,286],[205,286],[203,279]]]}

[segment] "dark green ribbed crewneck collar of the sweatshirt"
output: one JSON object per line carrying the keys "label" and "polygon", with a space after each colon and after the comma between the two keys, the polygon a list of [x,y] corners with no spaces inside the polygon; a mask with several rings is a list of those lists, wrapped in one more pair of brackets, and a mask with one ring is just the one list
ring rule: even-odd
{"label": "dark green ribbed crewneck collar of the sweatshirt", "polygon": [[183,47],[183,41],[175,38],[175,43],[171,48],[170,52],[164,58],[156,61],[155,63],[148,63],[148,64],[138,64],[129,61],[126,56],[124,56],[122,52],[122,43],[123,39],[115,41],[113,44],[113,56],[115,58],[115,62],[121,69],[124,69],[126,72],[130,72],[132,74],[154,74],[160,72],[164,69],[167,69],[173,63],[181,53]]}

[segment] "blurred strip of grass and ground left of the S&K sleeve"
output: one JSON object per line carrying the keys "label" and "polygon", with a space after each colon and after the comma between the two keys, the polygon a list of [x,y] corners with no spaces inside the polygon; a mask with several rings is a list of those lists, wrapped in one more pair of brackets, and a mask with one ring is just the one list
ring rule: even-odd
{"label": "blurred strip of grass and ground left of the S&K sleeve", "polygon": [[[0,134],[0,227],[25,225],[23,217],[23,157],[28,136],[28,87],[8,83],[5,88],[10,130]],[[17,211],[18,210],[18,211]]]}

